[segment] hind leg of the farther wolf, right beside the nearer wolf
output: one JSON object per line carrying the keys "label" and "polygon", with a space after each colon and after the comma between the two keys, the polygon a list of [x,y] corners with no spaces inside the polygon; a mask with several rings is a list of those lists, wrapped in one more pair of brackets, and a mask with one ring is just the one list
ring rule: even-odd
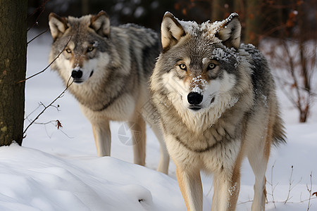
{"label": "hind leg of the farther wolf, right beside the nearer wolf", "polygon": [[156,138],[159,140],[159,143],[160,143],[161,157],[159,161],[159,167],[157,167],[157,171],[162,172],[164,174],[168,174],[168,165],[170,163],[170,155],[168,155],[163,134],[158,124],[153,124],[151,129],[153,130],[154,134],[156,135]]}

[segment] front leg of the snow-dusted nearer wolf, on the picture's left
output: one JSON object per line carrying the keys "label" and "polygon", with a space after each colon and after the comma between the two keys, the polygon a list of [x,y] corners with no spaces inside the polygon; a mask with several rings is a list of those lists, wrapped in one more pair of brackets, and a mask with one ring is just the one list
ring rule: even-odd
{"label": "front leg of the snow-dusted nearer wolf, on the picture's left", "polygon": [[203,190],[199,170],[196,167],[178,167],[176,164],[176,177],[187,211],[202,211]]}

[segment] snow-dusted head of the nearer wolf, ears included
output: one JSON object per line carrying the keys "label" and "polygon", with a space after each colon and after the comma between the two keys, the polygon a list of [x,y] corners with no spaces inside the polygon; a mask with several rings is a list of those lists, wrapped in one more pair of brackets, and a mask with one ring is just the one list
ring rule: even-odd
{"label": "snow-dusted head of the nearer wolf, ears included", "polygon": [[240,34],[237,13],[199,25],[167,12],[161,23],[163,51],[152,80],[161,77],[158,84],[179,111],[204,113],[216,105],[232,103],[230,91],[239,77]]}

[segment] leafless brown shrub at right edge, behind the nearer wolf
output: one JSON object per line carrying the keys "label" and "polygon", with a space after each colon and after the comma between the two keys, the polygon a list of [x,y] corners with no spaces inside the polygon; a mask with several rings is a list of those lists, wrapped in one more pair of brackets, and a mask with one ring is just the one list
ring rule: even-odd
{"label": "leafless brown shrub at right edge, behind the nearer wolf", "polygon": [[[278,69],[278,84],[282,84],[282,91],[299,111],[299,122],[306,122],[317,89],[312,81],[317,68],[316,30],[309,25],[311,20],[307,20],[306,11],[316,8],[316,1],[293,0],[272,6],[279,8],[280,13],[284,11],[286,17],[279,18],[280,23],[270,31],[276,38],[271,40],[271,48],[263,46],[263,51],[271,66]],[[316,15],[316,11],[313,13]]]}

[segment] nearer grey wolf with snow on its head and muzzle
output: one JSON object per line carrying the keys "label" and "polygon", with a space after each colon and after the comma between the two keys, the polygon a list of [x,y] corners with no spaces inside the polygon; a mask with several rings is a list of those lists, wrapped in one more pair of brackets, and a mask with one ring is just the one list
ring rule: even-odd
{"label": "nearer grey wolf with snow on its head and muzzle", "polygon": [[202,210],[201,171],[213,174],[211,210],[235,210],[244,157],[255,174],[251,210],[264,210],[270,149],[285,143],[268,63],[240,37],[237,13],[200,25],[163,16],[150,87],[187,210]]}

